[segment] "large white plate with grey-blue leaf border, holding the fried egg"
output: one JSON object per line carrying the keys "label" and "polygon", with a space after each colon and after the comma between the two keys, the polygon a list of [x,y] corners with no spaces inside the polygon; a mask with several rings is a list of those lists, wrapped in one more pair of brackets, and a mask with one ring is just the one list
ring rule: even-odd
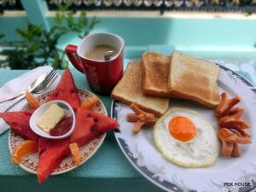
{"label": "large white plate with grey-blue leaf border, holding the fried egg", "polygon": [[[145,128],[134,135],[133,123],[126,121],[127,113],[132,113],[127,105],[113,101],[112,117],[119,121],[119,130],[114,135],[125,157],[138,172],[150,182],[166,191],[207,191],[207,192],[246,192],[256,189],[256,92],[247,79],[230,69],[219,66],[219,92],[226,91],[230,96],[241,97],[241,107],[246,109],[244,118],[251,126],[249,134],[252,143],[241,146],[239,158],[218,159],[212,166],[204,168],[185,168],[166,160],[154,145],[153,129]],[[217,134],[217,119],[213,110],[195,102],[175,100],[170,108],[189,108],[200,113],[214,127]]]}

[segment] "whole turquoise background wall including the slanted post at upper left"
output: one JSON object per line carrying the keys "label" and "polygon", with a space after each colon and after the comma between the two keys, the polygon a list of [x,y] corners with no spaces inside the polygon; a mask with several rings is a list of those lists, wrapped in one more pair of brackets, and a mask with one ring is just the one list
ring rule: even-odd
{"label": "whole turquoise background wall including the slanted post at upper left", "polygon": [[[22,0],[27,16],[0,15],[3,40],[19,40],[14,29],[32,23],[52,25],[54,18],[46,16],[43,0]],[[188,15],[188,14],[186,14]],[[256,19],[177,18],[177,17],[99,17],[94,32],[113,32],[125,39],[125,55],[137,57],[145,49],[160,49],[168,54],[180,49],[204,57],[256,57]],[[60,47],[79,44],[73,34],[61,38]]]}

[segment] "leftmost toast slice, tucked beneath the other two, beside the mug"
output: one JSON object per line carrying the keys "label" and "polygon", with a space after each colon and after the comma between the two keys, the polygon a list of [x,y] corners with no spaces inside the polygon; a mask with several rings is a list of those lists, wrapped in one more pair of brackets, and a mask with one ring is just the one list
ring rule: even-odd
{"label": "leftmost toast slice, tucked beneath the other two, beside the mug", "polygon": [[112,97],[127,105],[136,102],[140,108],[157,116],[165,113],[169,106],[169,98],[143,94],[143,65],[138,61],[129,63],[123,78],[113,88]]}

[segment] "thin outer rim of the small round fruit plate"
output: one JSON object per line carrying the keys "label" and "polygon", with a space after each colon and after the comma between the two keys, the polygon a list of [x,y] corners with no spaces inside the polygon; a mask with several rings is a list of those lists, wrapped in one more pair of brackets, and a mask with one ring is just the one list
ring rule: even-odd
{"label": "thin outer rim of the small round fruit plate", "polygon": [[[96,95],[95,95],[94,93],[92,93],[90,90],[84,90],[84,89],[82,89],[82,88],[77,88],[77,90],[79,90],[79,91],[81,91],[81,92],[84,92],[84,93],[89,93],[89,94],[92,95],[92,96],[96,96]],[[49,92],[51,92],[51,91],[53,91],[53,90],[47,90],[47,91],[45,91],[44,93],[38,95],[37,97],[47,95],[47,94],[49,94]],[[98,97],[98,96],[97,96],[97,97]],[[99,99],[99,102],[101,103],[101,107],[102,107],[103,112],[105,113],[105,115],[108,115],[107,108],[106,108],[106,106],[104,105],[104,103],[102,102],[101,99]],[[26,107],[27,107],[27,103],[22,106],[21,110],[23,110],[23,109],[26,108]],[[9,152],[10,152],[10,153],[12,152],[12,148],[11,148],[11,139],[10,139],[10,137],[11,137],[11,132],[12,132],[12,130],[9,130],[8,145],[9,145]],[[88,156],[87,158],[85,158],[85,159],[82,161],[82,163],[81,163],[79,166],[82,166],[87,160],[90,160],[90,158],[91,158],[94,154],[96,154],[96,151],[102,146],[102,143],[104,142],[106,135],[107,135],[107,133],[104,133],[104,134],[102,134],[101,136],[99,136],[99,137],[100,137],[100,142],[97,143],[96,148],[94,148],[94,150],[89,154],[89,156]],[[91,142],[93,142],[93,141],[94,141],[94,140],[92,140]],[[88,143],[88,144],[89,144],[89,143]],[[84,145],[84,146],[86,146],[86,145]],[[83,148],[84,146],[82,146],[82,147],[80,147],[80,148]],[[70,157],[70,155],[68,155],[66,158],[68,158],[68,157]],[[65,160],[66,158],[64,158],[64,160]],[[28,168],[27,166],[23,165],[22,162],[19,164],[19,166],[20,166],[21,169],[25,170],[26,172],[30,172],[30,173],[32,173],[32,174],[37,174],[37,172],[35,172],[35,171],[33,171],[32,169]],[[76,169],[76,168],[79,167],[79,166],[72,166],[72,167],[69,167],[69,168],[67,168],[67,169],[65,169],[65,170],[61,170],[61,171],[57,171],[57,172],[52,172],[51,175],[60,175],[60,174],[66,173],[66,172],[70,172],[70,171],[72,171],[73,169]]]}

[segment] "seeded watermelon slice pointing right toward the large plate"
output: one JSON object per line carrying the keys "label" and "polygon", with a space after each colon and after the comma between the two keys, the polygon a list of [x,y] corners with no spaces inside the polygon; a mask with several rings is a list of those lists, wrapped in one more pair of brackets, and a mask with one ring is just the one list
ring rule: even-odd
{"label": "seeded watermelon slice pointing right toward the large plate", "polygon": [[119,124],[115,119],[79,108],[76,114],[76,127],[70,140],[71,143],[78,143],[79,146],[82,146],[118,126]]}

